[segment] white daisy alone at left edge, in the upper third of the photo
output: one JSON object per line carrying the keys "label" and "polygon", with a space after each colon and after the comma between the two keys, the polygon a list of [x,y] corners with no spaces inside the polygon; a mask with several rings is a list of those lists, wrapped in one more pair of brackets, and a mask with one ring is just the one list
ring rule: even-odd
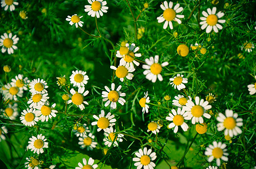
{"label": "white daisy alone at left edge, in the upper third of the photo", "polygon": [[[5,1],[1,1],[1,2],[5,2]],[[8,54],[13,54],[14,50],[18,49],[17,46],[15,46],[19,41],[19,38],[17,37],[17,35],[14,35],[12,37],[12,33],[9,33],[7,35],[7,33],[4,33],[3,35],[1,35],[0,38],[0,46],[2,47],[2,53],[5,53],[6,50],[8,52]]]}

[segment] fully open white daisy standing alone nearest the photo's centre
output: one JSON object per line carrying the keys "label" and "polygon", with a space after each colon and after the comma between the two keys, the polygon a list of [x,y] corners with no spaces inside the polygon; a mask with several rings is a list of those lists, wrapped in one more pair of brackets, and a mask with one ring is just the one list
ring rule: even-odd
{"label": "fully open white daisy standing alone nearest the photo's centre", "polygon": [[115,91],[115,83],[112,83],[111,91],[110,91],[109,87],[105,86],[105,89],[107,90],[107,92],[102,91],[102,95],[101,95],[104,98],[102,100],[106,101],[105,107],[108,106],[110,104],[110,102],[111,102],[110,107],[112,109],[116,108],[116,102],[119,102],[120,104],[124,105],[125,100],[122,97],[125,96],[125,93],[122,93],[119,91],[121,88],[122,88],[122,86],[119,85]]}

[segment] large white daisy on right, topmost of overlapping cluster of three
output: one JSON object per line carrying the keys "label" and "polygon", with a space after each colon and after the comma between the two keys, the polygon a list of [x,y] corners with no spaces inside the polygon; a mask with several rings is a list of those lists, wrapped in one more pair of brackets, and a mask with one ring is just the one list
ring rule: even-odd
{"label": "large white daisy on right, topmost of overlapping cluster of three", "polygon": [[193,101],[188,100],[188,103],[186,103],[186,106],[183,107],[183,109],[188,113],[188,115],[192,115],[192,124],[195,124],[196,122],[203,123],[203,117],[205,118],[211,118],[211,115],[206,113],[206,110],[211,109],[211,105],[208,105],[208,101],[204,101],[203,99],[199,99],[198,96],[196,96],[196,105],[193,103]]}

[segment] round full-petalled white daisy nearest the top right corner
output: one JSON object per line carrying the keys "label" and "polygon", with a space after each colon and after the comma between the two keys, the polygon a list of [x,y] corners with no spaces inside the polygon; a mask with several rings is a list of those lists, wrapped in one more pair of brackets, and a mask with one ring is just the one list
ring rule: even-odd
{"label": "round full-petalled white daisy nearest the top right corner", "polygon": [[[207,14],[208,12],[208,14]],[[206,33],[210,33],[212,28],[214,30],[214,32],[219,32],[218,29],[222,29],[222,25],[218,24],[218,23],[225,23],[225,20],[220,20],[221,17],[224,16],[224,13],[219,11],[216,14],[216,7],[213,7],[212,10],[210,8],[207,8],[207,12],[203,11],[202,14],[205,17],[200,17],[200,19],[202,20],[199,24],[202,25],[201,29],[205,29],[206,27]]]}

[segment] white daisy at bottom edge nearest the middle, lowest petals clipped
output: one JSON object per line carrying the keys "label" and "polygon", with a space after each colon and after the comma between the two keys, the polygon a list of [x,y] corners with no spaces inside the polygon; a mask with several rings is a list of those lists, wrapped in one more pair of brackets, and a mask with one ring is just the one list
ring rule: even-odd
{"label": "white daisy at bottom edge nearest the middle, lowest petals clipped", "polygon": [[152,153],[151,149],[147,150],[146,147],[143,150],[139,149],[138,152],[135,153],[135,155],[137,157],[134,157],[132,161],[135,162],[134,166],[136,166],[137,169],[140,169],[142,167],[144,167],[144,169],[152,169],[155,167],[155,163],[153,163],[152,161],[157,158],[157,155],[155,154],[155,152]]}

